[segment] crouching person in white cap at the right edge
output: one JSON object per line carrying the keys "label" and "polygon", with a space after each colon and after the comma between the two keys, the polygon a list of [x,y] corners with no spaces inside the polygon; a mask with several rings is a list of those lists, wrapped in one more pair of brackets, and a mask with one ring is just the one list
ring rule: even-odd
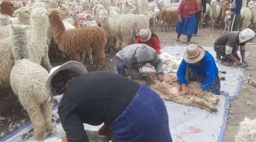
{"label": "crouching person in white cap at the right edge", "polygon": [[[255,33],[253,30],[246,28],[243,31],[232,31],[224,33],[214,42],[214,51],[218,60],[234,62],[241,66],[241,58],[243,64],[248,66],[245,60],[245,44],[247,42],[253,43]],[[241,58],[237,54],[238,46],[240,46]],[[223,58],[222,58],[223,57]],[[230,66],[231,64],[228,64]]]}

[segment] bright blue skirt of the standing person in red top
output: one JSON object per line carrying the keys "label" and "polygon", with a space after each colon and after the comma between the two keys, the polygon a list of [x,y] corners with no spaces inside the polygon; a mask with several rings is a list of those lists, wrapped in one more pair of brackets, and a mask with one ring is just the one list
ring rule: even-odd
{"label": "bright blue skirt of the standing person in red top", "polygon": [[181,23],[179,19],[176,24],[176,32],[178,34],[192,35],[195,32],[195,15],[193,17],[182,17]]}

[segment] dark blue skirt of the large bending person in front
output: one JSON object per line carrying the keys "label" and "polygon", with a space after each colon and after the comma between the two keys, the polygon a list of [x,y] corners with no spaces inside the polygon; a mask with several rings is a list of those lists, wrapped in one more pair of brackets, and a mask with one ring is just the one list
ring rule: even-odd
{"label": "dark blue skirt of the large bending person in front", "polygon": [[160,96],[144,84],[110,128],[112,142],[172,142],[166,106]]}

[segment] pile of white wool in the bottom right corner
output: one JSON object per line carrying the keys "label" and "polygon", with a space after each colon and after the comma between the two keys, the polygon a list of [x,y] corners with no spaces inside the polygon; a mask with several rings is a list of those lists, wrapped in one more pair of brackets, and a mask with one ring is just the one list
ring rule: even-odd
{"label": "pile of white wool in the bottom right corner", "polygon": [[251,120],[245,117],[245,121],[240,123],[240,129],[235,137],[235,142],[256,141],[256,119]]}

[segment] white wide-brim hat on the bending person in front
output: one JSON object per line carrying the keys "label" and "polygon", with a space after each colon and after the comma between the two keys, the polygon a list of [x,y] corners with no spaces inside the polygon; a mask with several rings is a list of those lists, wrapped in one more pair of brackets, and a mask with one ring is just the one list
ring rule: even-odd
{"label": "white wide-brim hat on the bending person in front", "polygon": [[69,61],[61,66],[55,66],[54,68],[51,69],[49,76],[45,82],[44,89],[47,94],[51,95],[52,93],[54,93],[51,82],[52,82],[53,76],[55,76],[55,74],[57,74],[61,70],[71,70],[73,72],[77,72],[79,75],[87,73],[86,67],[83,64],[76,61]]}

